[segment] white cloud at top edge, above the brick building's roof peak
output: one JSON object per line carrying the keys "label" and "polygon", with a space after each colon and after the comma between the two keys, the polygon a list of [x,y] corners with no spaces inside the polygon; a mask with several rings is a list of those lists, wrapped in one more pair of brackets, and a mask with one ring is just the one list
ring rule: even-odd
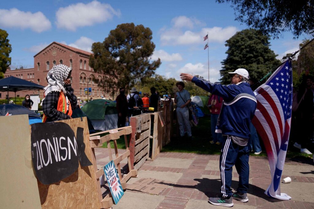
{"label": "white cloud at top edge, above the brick building's roof peak", "polygon": [[120,10],[113,9],[110,4],[92,1],[90,3],[71,4],[59,8],[56,12],[58,28],[75,31],[78,27],[90,26],[95,23],[106,22],[114,15],[119,16]]}

